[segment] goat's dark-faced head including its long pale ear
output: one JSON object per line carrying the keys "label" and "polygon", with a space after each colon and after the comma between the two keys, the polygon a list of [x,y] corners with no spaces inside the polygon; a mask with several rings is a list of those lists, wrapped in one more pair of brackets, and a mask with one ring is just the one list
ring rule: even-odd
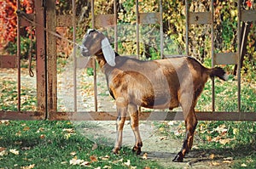
{"label": "goat's dark-faced head including its long pale ear", "polygon": [[103,54],[108,65],[115,65],[115,54],[113,48],[108,42],[108,38],[105,37],[102,32],[94,29],[88,30],[84,35],[82,46],[83,48],[81,49],[81,54],[83,56]]}

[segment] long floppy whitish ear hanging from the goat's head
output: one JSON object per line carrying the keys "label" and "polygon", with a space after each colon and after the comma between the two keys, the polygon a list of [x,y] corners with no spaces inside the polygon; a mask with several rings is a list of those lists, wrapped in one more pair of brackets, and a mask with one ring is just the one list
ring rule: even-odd
{"label": "long floppy whitish ear hanging from the goat's head", "polygon": [[114,66],[115,65],[115,54],[113,51],[113,48],[110,46],[110,43],[108,42],[108,38],[105,37],[102,40],[102,52],[104,55],[104,58],[106,59],[108,65]]}

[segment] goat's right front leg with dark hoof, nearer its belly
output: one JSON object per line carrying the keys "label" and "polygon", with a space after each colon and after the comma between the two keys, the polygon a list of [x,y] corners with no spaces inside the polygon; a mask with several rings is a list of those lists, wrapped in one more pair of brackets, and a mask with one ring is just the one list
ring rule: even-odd
{"label": "goat's right front leg with dark hoof, nearer its belly", "polygon": [[136,152],[137,155],[140,155],[143,147],[142,138],[139,132],[139,119],[138,119],[138,109],[136,104],[129,104],[128,105],[128,112],[131,117],[131,129],[135,136],[135,145],[132,149],[133,152]]}

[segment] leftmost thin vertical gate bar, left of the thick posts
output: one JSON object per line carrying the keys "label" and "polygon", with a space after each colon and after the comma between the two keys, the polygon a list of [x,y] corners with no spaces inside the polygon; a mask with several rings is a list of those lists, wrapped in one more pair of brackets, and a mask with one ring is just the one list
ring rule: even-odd
{"label": "leftmost thin vertical gate bar, left of the thick posts", "polygon": [[[20,9],[20,0],[17,0],[17,9]],[[17,16],[17,64],[18,64],[18,111],[20,111],[20,17]]]}

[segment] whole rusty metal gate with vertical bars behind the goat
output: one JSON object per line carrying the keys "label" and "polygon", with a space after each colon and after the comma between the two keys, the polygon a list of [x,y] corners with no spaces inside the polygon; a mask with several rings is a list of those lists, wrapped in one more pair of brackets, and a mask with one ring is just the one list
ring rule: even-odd
{"label": "whole rusty metal gate with vertical bars behind the goat", "polygon": [[[118,51],[118,13],[117,2],[113,3],[113,14],[95,14],[95,1],[91,0],[91,27],[102,28],[112,26],[114,30],[114,48]],[[78,111],[77,110],[77,67],[81,62],[77,57],[77,43],[76,43],[76,4],[75,0],[72,1],[72,14],[57,15],[55,13],[54,0],[35,1],[34,9],[35,14],[20,14],[18,17],[18,27],[33,25],[36,30],[36,71],[37,71],[37,110],[36,111],[22,111],[20,110],[20,36],[17,37],[18,53],[17,57],[1,56],[1,66],[16,67],[18,70],[18,110],[5,111],[0,110],[0,119],[9,120],[79,120],[79,121],[108,121],[116,120],[115,112],[98,111],[97,102],[97,75],[96,75],[96,62],[93,60],[92,65],[94,69],[94,99],[95,110],[93,111]],[[159,12],[156,13],[140,13],[139,1],[136,0],[136,34],[137,34],[137,58],[140,53],[140,29],[142,24],[157,24],[160,25],[160,57],[164,55],[164,35],[163,35],[163,7],[162,0],[159,2]],[[18,1],[18,9],[19,1]],[[207,12],[190,12],[189,3],[185,1],[185,14],[186,14],[186,55],[189,54],[189,26],[190,25],[211,25],[211,39],[212,39],[212,67],[214,65],[237,65],[237,112],[217,112],[215,111],[215,85],[212,81],[212,110],[207,112],[197,112],[198,120],[202,121],[256,121],[256,114],[253,112],[241,112],[241,22],[255,21],[256,10],[242,10],[241,2],[237,3],[237,52],[236,53],[218,53],[215,54],[214,50],[214,27],[213,27],[213,14],[214,6],[213,0],[211,1],[210,11]],[[21,11],[22,12],[22,11]],[[57,59],[56,59],[56,37],[59,35],[55,33],[56,27],[72,26],[73,39],[67,39],[68,42],[73,43],[73,111],[58,111],[57,110]],[[18,29],[18,35],[20,35]],[[65,38],[65,37],[61,37]],[[172,57],[172,56],[167,56]],[[164,119],[163,119],[164,116]],[[143,111],[140,114],[141,120],[148,121],[172,121],[183,120],[183,113],[181,111]]]}

